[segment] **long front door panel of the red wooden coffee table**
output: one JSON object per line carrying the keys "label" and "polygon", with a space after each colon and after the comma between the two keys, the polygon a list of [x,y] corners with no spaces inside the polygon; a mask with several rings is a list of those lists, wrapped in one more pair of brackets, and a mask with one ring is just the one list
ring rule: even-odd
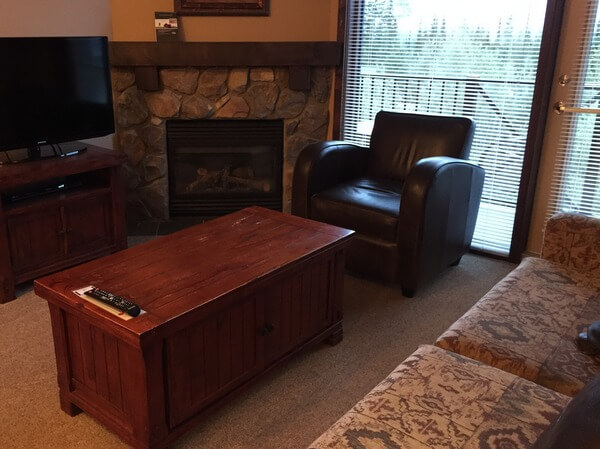
{"label": "long front door panel of the red wooden coffee table", "polygon": [[331,326],[334,262],[306,263],[167,339],[171,428]]}

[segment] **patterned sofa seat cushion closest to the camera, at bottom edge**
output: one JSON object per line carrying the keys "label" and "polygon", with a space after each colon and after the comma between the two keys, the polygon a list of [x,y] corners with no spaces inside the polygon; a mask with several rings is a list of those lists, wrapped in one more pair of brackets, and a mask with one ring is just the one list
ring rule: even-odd
{"label": "patterned sofa seat cushion closest to the camera, at bottom edge", "polygon": [[567,396],[434,346],[422,346],[312,449],[526,449]]}

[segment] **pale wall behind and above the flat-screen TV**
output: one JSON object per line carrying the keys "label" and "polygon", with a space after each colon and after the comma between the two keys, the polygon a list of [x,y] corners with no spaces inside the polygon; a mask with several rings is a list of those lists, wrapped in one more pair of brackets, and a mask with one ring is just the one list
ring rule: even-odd
{"label": "pale wall behind and above the flat-screen TV", "polygon": [[[110,20],[110,0],[0,0],[0,37],[110,37]],[[112,137],[89,142],[112,148]]]}

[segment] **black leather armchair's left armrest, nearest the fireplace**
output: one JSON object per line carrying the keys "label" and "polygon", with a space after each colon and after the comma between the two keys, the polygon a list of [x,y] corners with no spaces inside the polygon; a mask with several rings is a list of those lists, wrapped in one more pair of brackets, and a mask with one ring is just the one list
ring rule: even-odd
{"label": "black leather armchair's left armrest, nearest the fireplace", "polygon": [[367,172],[369,149],[342,141],[308,145],[294,167],[292,214],[310,217],[310,198]]}

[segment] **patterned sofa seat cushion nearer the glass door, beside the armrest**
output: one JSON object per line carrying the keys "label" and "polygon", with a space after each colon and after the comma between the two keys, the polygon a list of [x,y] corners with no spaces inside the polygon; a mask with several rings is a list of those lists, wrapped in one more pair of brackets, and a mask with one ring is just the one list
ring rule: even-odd
{"label": "patterned sofa seat cushion nearer the glass door, beside the armrest", "polygon": [[555,262],[525,259],[436,345],[573,396],[600,373],[574,338],[600,318],[596,287]]}

